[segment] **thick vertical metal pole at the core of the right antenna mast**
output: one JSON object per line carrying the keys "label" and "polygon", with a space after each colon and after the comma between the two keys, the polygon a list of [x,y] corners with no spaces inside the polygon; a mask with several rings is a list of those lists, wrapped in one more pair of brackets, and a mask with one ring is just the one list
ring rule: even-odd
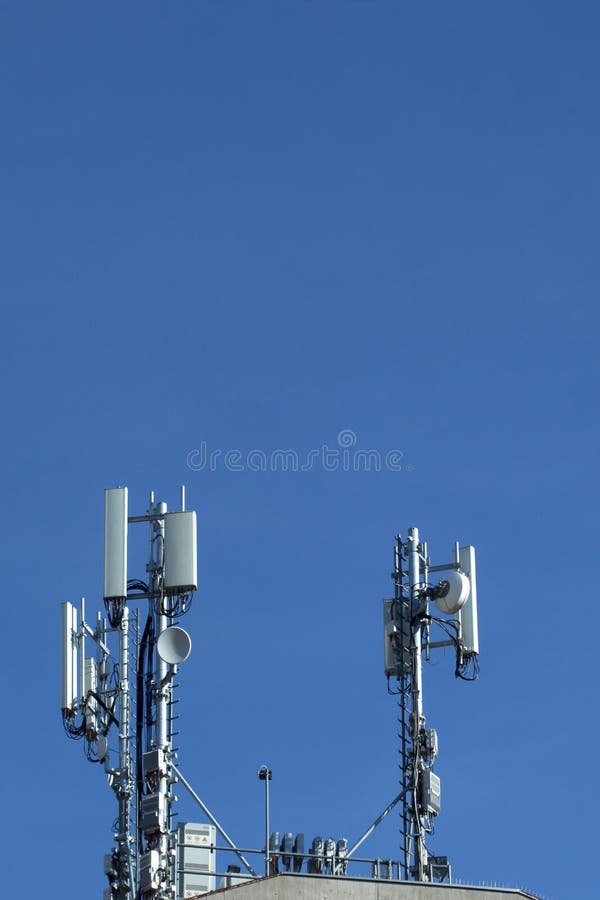
{"label": "thick vertical metal pole at the core of the right antenna mast", "polygon": [[412,671],[412,813],[415,838],[415,876],[423,881],[427,863],[427,851],[423,840],[423,828],[419,812],[419,787],[421,781],[421,729],[423,727],[423,672],[421,659],[421,598],[419,584],[421,560],[419,557],[419,529],[408,529],[408,581],[410,585]]}

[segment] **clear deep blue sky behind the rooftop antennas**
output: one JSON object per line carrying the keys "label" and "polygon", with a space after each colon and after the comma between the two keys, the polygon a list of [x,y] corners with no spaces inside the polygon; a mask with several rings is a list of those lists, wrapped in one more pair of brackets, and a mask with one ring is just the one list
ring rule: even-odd
{"label": "clear deep blue sky behind the rooftop antennas", "polygon": [[[59,603],[100,602],[104,487],[142,512],[182,482],[180,764],[234,838],[261,843],[264,762],[307,838],[397,792],[381,598],[415,524],[478,552],[481,679],[425,672],[432,847],[589,893],[599,28],[549,0],[0,3],[9,893],[34,861],[51,900],[100,896],[116,809],[60,726]],[[343,429],[401,470],[188,465]]]}

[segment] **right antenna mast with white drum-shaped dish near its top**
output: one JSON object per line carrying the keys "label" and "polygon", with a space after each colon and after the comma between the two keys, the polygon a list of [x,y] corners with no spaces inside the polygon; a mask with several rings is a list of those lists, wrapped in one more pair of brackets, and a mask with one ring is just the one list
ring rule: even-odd
{"label": "right antenna mast with white drum-shaped dish near its top", "polygon": [[[437,733],[426,727],[423,712],[423,655],[451,646],[456,651],[455,675],[474,681],[479,675],[475,549],[456,543],[453,560],[432,566],[418,528],[394,546],[394,597],[383,601],[384,660],[388,691],[400,707],[401,791],[389,808],[402,802],[402,877],[416,881],[450,881],[445,856],[431,856],[426,838],[440,811],[440,779],[433,772],[438,753]],[[443,572],[436,584],[433,573]],[[437,612],[430,607],[433,601]],[[443,638],[432,641],[432,628]],[[395,683],[395,688],[392,684]]]}

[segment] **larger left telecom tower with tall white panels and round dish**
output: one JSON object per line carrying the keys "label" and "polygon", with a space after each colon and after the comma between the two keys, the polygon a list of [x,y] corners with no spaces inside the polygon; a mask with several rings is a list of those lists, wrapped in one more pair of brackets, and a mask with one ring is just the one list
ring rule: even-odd
{"label": "larger left telecom tower with tall white panels and round dish", "polygon": [[[129,579],[128,526],[142,522],[149,531],[146,574]],[[87,758],[103,765],[117,799],[105,900],[175,900],[173,678],[191,650],[176,623],[196,587],[196,513],[186,511],[184,489],[179,511],[167,512],[152,493],[142,516],[128,515],[127,488],[107,489],[105,615],[98,612],[92,626],[83,598],[79,622],[77,609],[62,604],[61,699],[67,734],[81,738]]]}

